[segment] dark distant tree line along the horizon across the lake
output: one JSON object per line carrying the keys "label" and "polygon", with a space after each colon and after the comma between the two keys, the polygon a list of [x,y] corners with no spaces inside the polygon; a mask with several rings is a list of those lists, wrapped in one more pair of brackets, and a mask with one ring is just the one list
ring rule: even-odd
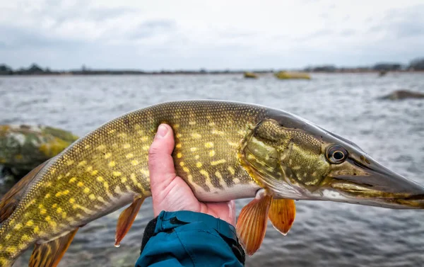
{"label": "dark distant tree line along the horizon across the lake", "polygon": [[[37,64],[31,64],[28,68],[20,68],[13,70],[6,64],[0,64],[0,75],[42,75],[42,74],[75,74],[75,75],[89,75],[89,74],[230,74],[230,73],[244,73],[246,71],[256,73],[272,73],[273,69],[239,69],[239,70],[220,70],[208,71],[206,69],[199,70],[161,70],[157,72],[144,72],[139,70],[95,70],[87,69],[85,65],[81,69],[70,71],[52,71],[49,68],[42,69]],[[335,65],[322,65],[314,67],[306,67],[303,69],[305,72],[390,72],[390,71],[424,71],[424,57],[413,59],[408,65],[401,63],[377,63],[374,66],[364,67],[336,67]]]}

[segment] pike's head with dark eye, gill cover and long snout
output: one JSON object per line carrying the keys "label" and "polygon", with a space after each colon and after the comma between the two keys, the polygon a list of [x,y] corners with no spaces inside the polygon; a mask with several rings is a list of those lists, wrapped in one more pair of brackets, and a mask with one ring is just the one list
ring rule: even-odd
{"label": "pike's head with dark eye, gill cover and long snout", "polygon": [[274,198],[424,208],[424,187],[358,145],[290,113],[262,120],[242,142],[241,161]]}

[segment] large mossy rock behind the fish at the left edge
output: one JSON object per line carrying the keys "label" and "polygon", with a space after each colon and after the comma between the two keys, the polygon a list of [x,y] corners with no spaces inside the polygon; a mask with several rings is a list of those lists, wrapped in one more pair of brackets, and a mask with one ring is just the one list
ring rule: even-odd
{"label": "large mossy rock behind the fish at the left edge", "polygon": [[0,125],[0,164],[21,178],[77,139],[71,132],[44,125]]}

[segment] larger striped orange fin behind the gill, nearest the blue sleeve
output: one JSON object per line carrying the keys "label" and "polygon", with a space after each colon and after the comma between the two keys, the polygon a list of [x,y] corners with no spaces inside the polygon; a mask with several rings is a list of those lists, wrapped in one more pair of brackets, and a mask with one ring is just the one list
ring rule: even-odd
{"label": "larger striped orange fin behind the gill, nearest the blue sleeve", "polygon": [[268,222],[272,197],[261,189],[249,204],[242,208],[237,220],[237,236],[248,255],[253,255],[261,246]]}

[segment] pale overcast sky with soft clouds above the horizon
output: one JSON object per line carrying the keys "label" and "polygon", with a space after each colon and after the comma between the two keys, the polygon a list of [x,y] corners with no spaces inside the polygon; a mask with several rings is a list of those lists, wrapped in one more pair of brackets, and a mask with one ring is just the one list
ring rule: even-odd
{"label": "pale overcast sky with soft clouds above the horizon", "polygon": [[0,0],[0,63],[249,69],[424,57],[423,0]]}

